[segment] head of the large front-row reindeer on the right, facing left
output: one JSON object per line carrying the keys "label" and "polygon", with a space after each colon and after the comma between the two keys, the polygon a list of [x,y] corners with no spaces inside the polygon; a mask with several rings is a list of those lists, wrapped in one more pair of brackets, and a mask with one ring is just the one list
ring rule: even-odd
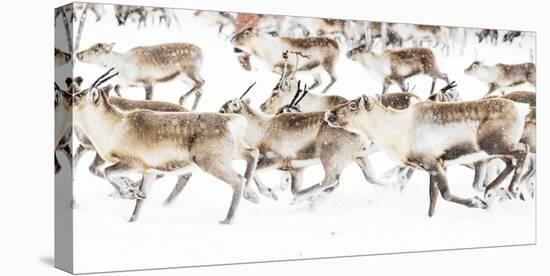
{"label": "head of the large front-row reindeer on the right, facing left", "polygon": [[357,99],[337,105],[325,113],[325,122],[332,127],[362,128],[364,124],[374,123],[371,115],[387,110],[378,100],[363,95]]}

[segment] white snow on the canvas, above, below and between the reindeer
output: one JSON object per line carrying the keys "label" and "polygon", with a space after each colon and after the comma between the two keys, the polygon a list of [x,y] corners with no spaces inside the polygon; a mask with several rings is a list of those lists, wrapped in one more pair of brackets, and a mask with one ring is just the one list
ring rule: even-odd
{"label": "white snow on the canvas, above, below and between the reindeer", "polygon": [[[279,77],[255,59],[252,60],[255,69],[244,71],[228,39],[218,35],[216,27],[194,17],[193,11],[175,11],[181,29],[151,26],[150,23],[146,28],[137,29],[136,24],[130,23],[117,26],[112,6],[107,5],[105,9],[107,13],[99,22],[94,22],[92,14],[88,15],[80,49],[97,42],[116,42],[114,49],[120,52],[165,42],[190,42],[201,47],[204,53],[201,73],[206,83],[199,111],[217,111],[254,81],[258,83],[249,97],[253,105],[259,106],[270,95]],[[516,42],[511,46],[502,43],[480,45],[473,31],[469,34],[463,56],[452,51],[447,57],[434,50],[440,69],[458,83],[457,89],[465,100],[479,98],[487,90],[485,84],[463,73],[475,59],[487,64],[531,61],[530,48],[535,44],[532,34],[521,39],[521,48]],[[381,84],[370,79],[359,64],[348,60],[346,49],[341,49],[336,66],[338,81],[329,93],[351,99],[381,91]],[[84,87],[87,87],[104,71],[76,62],[74,76],[83,76]],[[308,73],[298,73],[297,77],[309,83],[312,81]],[[324,76],[324,80],[320,89],[326,85],[328,76]],[[115,82],[116,79],[111,83]],[[414,92],[419,96],[428,95],[429,77],[414,77],[408,82],[416,85]],[[438,81],[436,88],[443,85]],[[160,84],[155,87],[154,99],[177,102],[189,89],[181,81]],[[517,89],[533,90],[529,85]],[[392,86],[390,91],[398,91],[398,88]],[[128,98],[144,98],[141,88],[122,93]],[[187,105],[190,104],[191,100]],[[66,159],[60,159],[66,166]],[[88,172],[92,159],[92,154],[81,159],[74,181],[74,267],[77,273],[535,242],[535,203],[532,199],[507,201],[490,210],[480,210],[440,198],[435,216],[428,218],[428,176],[425,172],[416,172],[400,193],[367,183],[356,165],[345,169],[338,189],[315,208],[307,204],[289,205],[292,196],[285,190],[278,193],[278,201],[262,197],[260,203],[254,205],[242,200],[231,225],[218,224],[231,199],[227,184],[196,171],[175,203],[164,207],[162,202],[176,181],[175,176],[168,176],[153,185],[139,220],[128,223],[134,202],[108,197],[111,186]],[[377,174],[396,165],[384,153],[375,153],[371,161]],[[244,162],[234,164],[239,172],[244,171]],[[265,184],[279,186],[279,172],[259,175]],[[448,177],[449,186],[457,195],[477,193],[471,185],[472,170],[451,167]],[[315,166],[306,170],[304,184],[313,185],[322,178],[322,168]]]}

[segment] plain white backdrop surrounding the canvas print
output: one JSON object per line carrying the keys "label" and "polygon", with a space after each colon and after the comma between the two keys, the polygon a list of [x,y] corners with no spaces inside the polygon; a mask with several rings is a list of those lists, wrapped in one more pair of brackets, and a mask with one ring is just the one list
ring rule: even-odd
{"label": "plain white backdrop surrounding the canvas print", "polygon": [[[227,2],[227,1],[226,1]],[[426,24],[445,24],[458,26],[476,26],[492,28],[526,29],[538,32],[539,106],[545,106],[544,76],[545,58],[542,43],[546,38],[543,29],[543,7],[517,3],[507,6],[499,4],[494,7],[481,3],[462,4],[462,6],[441,6],[432,1],[424,3],[405,2],[400,6],[398,1],[377,3],[367,7],[359,4],[345,5],[353,1],[338,1],[340,9],[334,6],[315,3],[314,7],[291,1],[252,5],[246,1],[186,1],[185,6],[176,1],[142,1],[168,7],[185,7],[213,10],[237,10],[258,13],[275,13],[289,15],[325,16],[332,18],[369,19],[397,22],[414,22]],[[465,2],[465,1],[462,1]],[[128,3],[132,2],[119,2]],[[237,3],[246,3],[239,4]],[[2,20],[3,30],[7,32],[2,43],[2,61],[4,65],[3,91],[8,94],[2,101],[2,224],[1,224],[1,264],[0,269],[6,275],[62,272],[53,269],[53,175],[51,168],[51,140],[53,137],[53,114],[51,109],[53,63],[53,8],[61,3],[53,1],[37,5],[30,3],[20,7],[5,6]],[[395,10],[400,7],[399,10]],[[387,12],[387,11],[390,11]],[[488,21],[487,18],[491,17]],[[19,20],[17,20],[19,19]],[[13,26],[13,28],[10,28]],[[23,40],[23,41],[22,41]],[[46,45],[47,44],[47,45]],[[5,56],[5,57],[4,57]],[[5,60],[8,59],[8,63]],[[13,63],[13,65],[12,65]],[[30,69],[30,70],[29,70]],[[7,74],[6,74],[7,73]],[[16,94],[17,93],[17,94]],[[25,95],[22,95],[25,93]],[[17,95],[18,97],[16,97]],[[25,113],[23,113],[25,112]],[[28,112],[28,113],[27,113]],[[252,275],[257,273],[279,274],[317,272],[333,274],[345,272],[395,274],[404,272],[423,272],[430,274],[445,273],[456,275],[464,273],[529,273],[546,268],[542,263],[545,237],[542,228],[545,225],[544,206],[546,175],[542,169],[545,164],[544,141],[544,108],[539,108],[539,170],[538,170],[538,244],[530,247],[512,247],[499,249],[447,251],[435,253],[400,254],[390,256],[371,256],[346,259],[329,259],[317,261],[285,262],[274,264],[252,264],[209,268],[192,268],[186,270],[163,270],[148,272],[151,275],[191,274],[227,274],[239,273]],[[541,125],[542,122],[542,125]],[[410,230],[410,229],[407,229]],[[5,239],[5,240],[4,240]],[[548,254],[548,252],[546,252]],[[4,273],[3,273],[4,274]],[[147,275],[147,272],[136,273]],[[537,273],[539,274],[539,273]],[[128,274],[130,275],[130,274]]]}

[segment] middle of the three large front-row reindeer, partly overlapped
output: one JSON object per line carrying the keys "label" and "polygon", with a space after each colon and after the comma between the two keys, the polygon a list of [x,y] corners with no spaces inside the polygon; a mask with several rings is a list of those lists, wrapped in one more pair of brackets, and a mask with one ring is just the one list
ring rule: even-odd
{"label": "middle of the three large front-row reindeer, partly overlapped", "polygon": [[[298,90],[297,94],[300,92]],[[301,189],[304,169],[318,162],[325,170],[323,183],[338,182],[342,170],[350,162],[355,162],[368,182],[390,186],[372,172],[368,159],[372,144],[365,135],[329,127],[323,122],[324,111],[263,114],[254,110],[249,100],[243,99],[244,95],[226,102],[219,112],[247,118],[245,140],[260,151],[257,171],[277,169],[290,172],[293,194]],[[270,191],[260,188],[263,184],[257,176],[254,176],[254,181],[260,193],[276,199]]]}

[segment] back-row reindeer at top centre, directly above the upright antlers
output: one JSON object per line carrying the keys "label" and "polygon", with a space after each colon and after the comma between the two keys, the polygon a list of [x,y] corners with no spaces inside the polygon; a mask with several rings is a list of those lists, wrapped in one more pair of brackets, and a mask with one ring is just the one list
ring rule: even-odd
{"label": "back-row reindeer at top centre, directly above the upright antlers", "polygon": [[[334,66],[338,60],[338,43],[326,37],[272,37],[260,32],[257,27],[246,28],[231,38],[235,47],[248,52],[265,61],[273,71],[282,71],[285,61],[280,53],[286,50],[301,52],[310,57],[299,68],[288,68],[290,71],[310,71],[322,67],[330,75],[330,83],[323,89],[325,93],[336,82]],[[319,74],[314,74],[314,83],[309,87],[314,89],[321,84]]]}

